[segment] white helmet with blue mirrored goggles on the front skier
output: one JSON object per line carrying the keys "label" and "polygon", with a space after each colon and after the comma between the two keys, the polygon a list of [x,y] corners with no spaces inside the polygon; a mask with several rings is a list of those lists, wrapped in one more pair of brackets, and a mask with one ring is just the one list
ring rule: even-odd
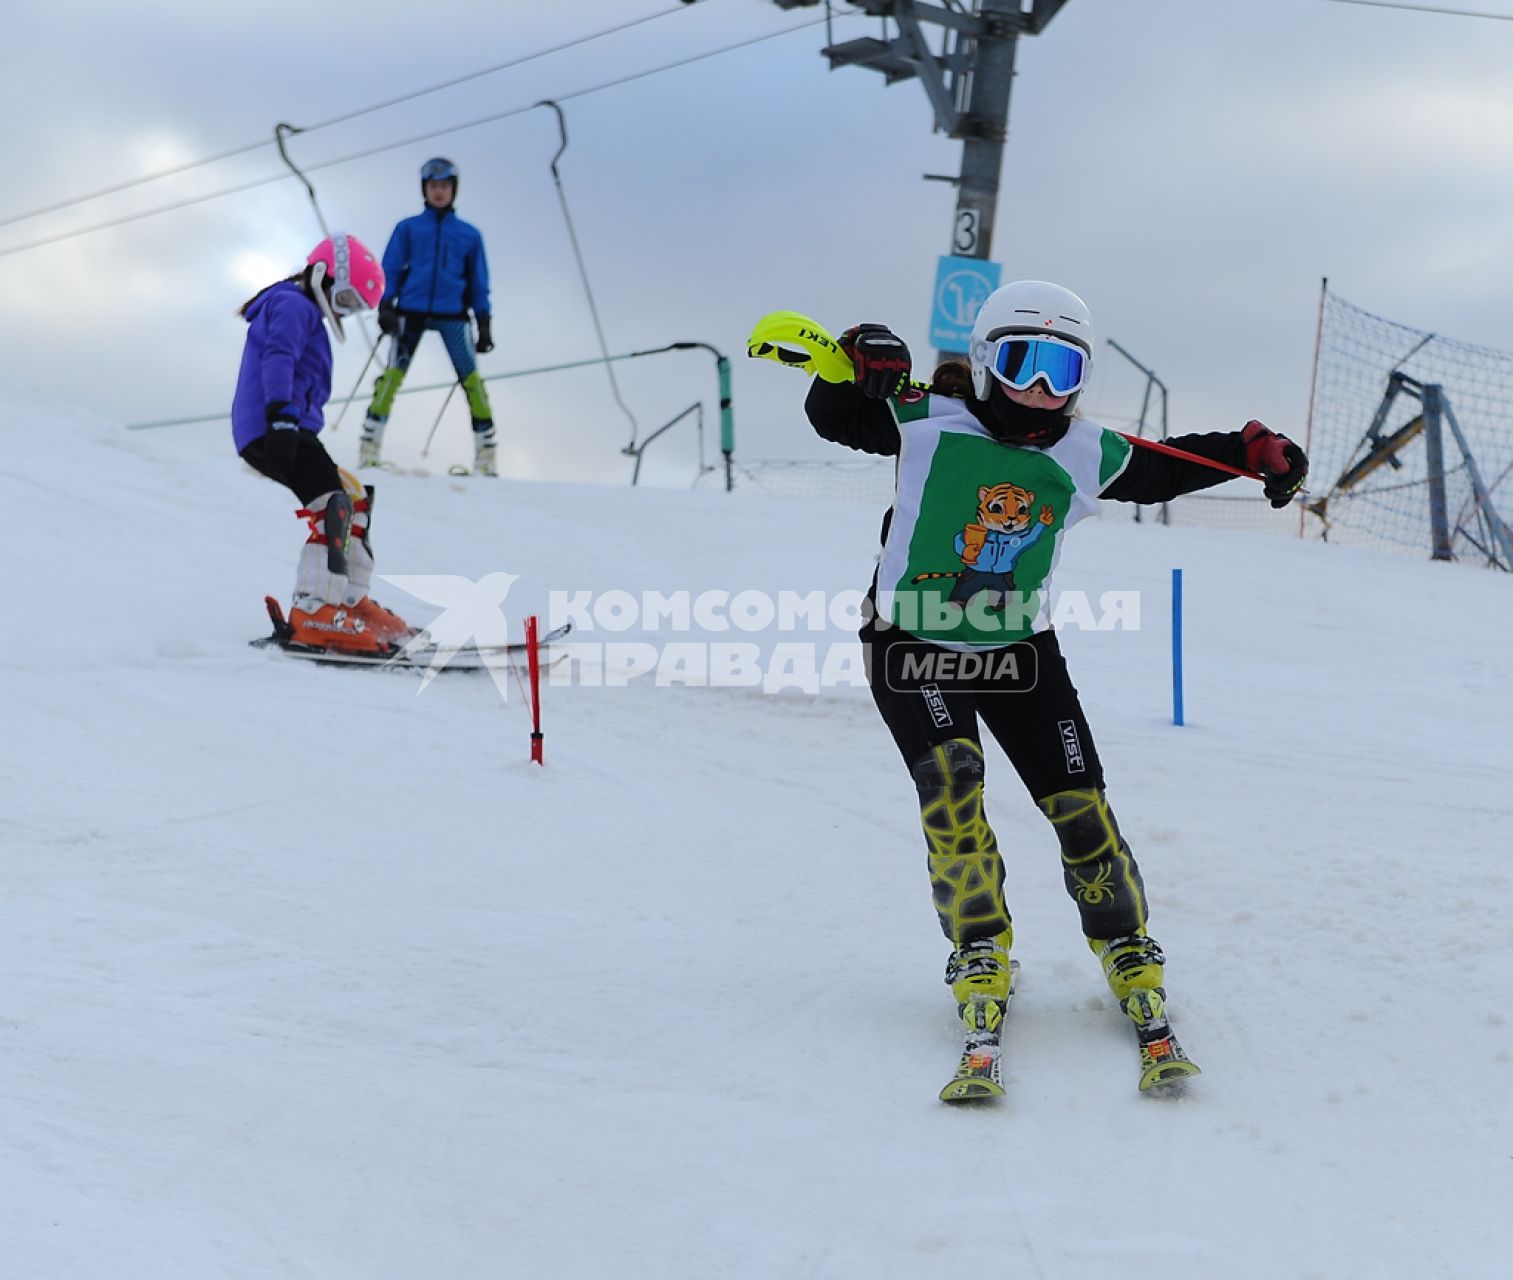
{"label": "white helmet with blue mirrored goggles on the front skier", "polygon": [[1015,280],[988,295],[971,327],[971,389],[986,399],[997,380],[1015,390],[1041,383],[1071,413],[1092,372],[1092,313],[1070,289]]}

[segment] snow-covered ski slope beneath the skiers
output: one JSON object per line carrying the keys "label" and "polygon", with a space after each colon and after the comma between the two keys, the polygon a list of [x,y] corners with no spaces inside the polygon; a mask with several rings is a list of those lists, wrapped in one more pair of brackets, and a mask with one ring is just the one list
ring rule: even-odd
{"label": "snow-covered ski slope beneath the skiers", "polygon": [[[551,688],[534,769],[487,679],[247,646],[303,530],[218,428],[12,387],[0,437],[0,1277],[1508,1274],[1505,578],[1082,527],[1061,586],[1144,593],[1064,645],[1204,1074],[1136,1094],[990,749],[1024,973],[1008,1098],[952,1111],[864,691]],[[520,575],[516,626],[552,589],[856,589],[878,519],[380,486],[380,572]]]}

